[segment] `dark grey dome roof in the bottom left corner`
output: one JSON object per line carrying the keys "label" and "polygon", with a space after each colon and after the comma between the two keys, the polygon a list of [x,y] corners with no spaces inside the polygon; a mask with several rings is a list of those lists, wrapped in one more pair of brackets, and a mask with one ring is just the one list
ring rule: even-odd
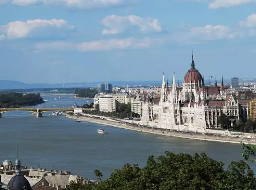
{"label": "dark grey dome roof in the bottom left corner", "polygon": [[8,187],[9,190],[31,190],[28,180],[22,175],[13,176],[8,183]]}

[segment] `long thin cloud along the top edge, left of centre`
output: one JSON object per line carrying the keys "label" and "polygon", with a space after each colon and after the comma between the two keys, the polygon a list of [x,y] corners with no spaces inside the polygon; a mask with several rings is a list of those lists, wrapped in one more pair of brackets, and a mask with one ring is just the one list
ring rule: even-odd
{"label": "long thin cloud along the top edge, left of centre", "polygon": [[12,0],[13,5],[35,5],[37,3],[66,5],[68,7],[92,8],[97,6],[119,5],[123,0]]}

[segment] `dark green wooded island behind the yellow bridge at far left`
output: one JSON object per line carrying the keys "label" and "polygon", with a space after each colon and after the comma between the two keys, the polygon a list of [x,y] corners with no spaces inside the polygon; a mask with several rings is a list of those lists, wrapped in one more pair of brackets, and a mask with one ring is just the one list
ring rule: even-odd
{"label": "dark green wooded island behind the yellow bridge at far left", "polygon": [[43,103],[43,98],[40,94],[23,94],[23,93],[1,93],[0,94],[0,107],[21,107],[21,106],[33,106]]}

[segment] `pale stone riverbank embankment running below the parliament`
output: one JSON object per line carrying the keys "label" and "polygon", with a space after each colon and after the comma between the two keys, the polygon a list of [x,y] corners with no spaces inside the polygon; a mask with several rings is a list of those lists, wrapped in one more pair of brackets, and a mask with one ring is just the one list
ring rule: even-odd
{"label": "pale stone riverbank embankment running below the parliament", "polygon": [[[73,115],[66,115],[66,117],[71,118],[71,119],[78,118],[77,116],[73,116]],[[84,116],[80,116],[79,120],[82,120],[82,121],[85,121],[88,123],[107,125],[107,126],[111,126],[111,127],[118,127],[118,128],[122,128],[122,129],[135,130],[135,131],[159,134],[159,135],[170,136],[170,137],[197,139],[197,140],[202,140],[202,141],[228,142],[228,143],[237,143],[237,144],[239,144],[242,141],[245,144],[256,145],[255,139],[173,132],[173,131],[166,131],[166,130],[160,130],[160,129],[152,129],[152,128],[148,128],[148,127],[132,126],[132,125],[124,124],[124,123],[119,123],[119,122],[116,122],[111,119],[101,120],[101,119],[89,118],[89,117],[84,117]]]}

